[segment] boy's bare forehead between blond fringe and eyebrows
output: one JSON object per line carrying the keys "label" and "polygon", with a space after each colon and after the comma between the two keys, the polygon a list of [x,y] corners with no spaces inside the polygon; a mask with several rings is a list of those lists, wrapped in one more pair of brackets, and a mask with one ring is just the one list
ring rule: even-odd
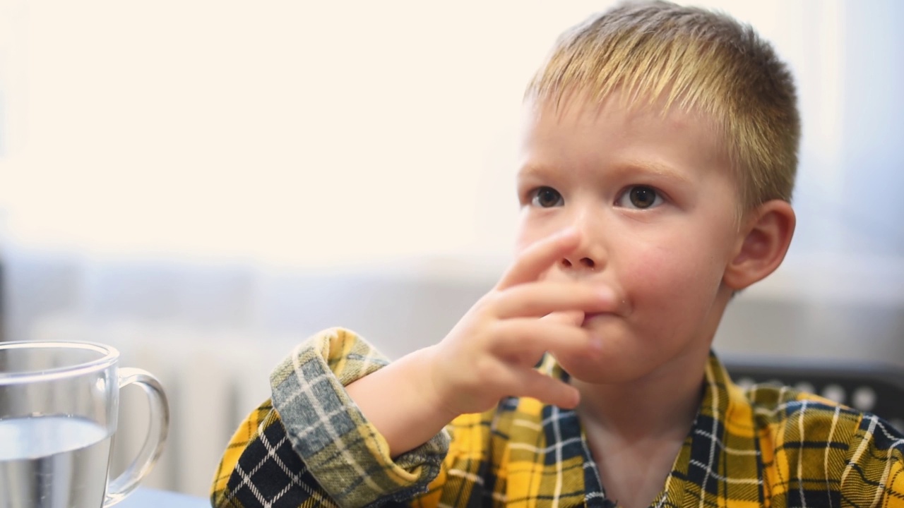
{"label": "boy's bare forehead between blond fringe and eyebrows", "polygon": [[[564,167],[643,168],[648,174],[710,170],[730,174],[730,157],[716,122],[699,111],[617,95],[598,100],[572,95],[526,101],[518,147],[519,177]],[[703,172],[703,173],[701,173]]]}

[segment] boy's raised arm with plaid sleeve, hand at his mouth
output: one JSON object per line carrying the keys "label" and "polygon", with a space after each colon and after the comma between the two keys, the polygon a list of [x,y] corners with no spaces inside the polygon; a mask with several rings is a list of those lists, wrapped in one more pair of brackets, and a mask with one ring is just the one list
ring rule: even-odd
{"label": "boy's raised arm with plaid sleeve, hand at his mouth", "polygon": [[[583,312],[617,306],[610,290],[543,280],[578,245],[575,231],[535,242],[440,343],[392,365],[341,330],[302,344],[271,375],[273,409],[257,434],[233,441],[242,451],[221,467],[230,473],[214,486],[216,505],[250,508],[284,491],[298,496],[293,505],[320,503],[321,493],[343,506],[410,501],[438,474],[448,446],[442,429],[458,415],[491,410],[506,396],[575,407],[574,387],[533,366],[548,351],[597,354],[600,338],[580,327]],[[563,312],[580,319],[553,317]]]}

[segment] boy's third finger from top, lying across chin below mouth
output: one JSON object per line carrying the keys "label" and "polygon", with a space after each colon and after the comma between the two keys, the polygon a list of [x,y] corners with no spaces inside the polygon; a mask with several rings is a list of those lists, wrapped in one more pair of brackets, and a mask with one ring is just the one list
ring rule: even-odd
{"label": "boy's third finger from top, lying across chin below mouth", "polygon": [[502,358],[526,359],[531,365],[547,351],[589,354],[601,347],[599,338],[574,325],[519,317],[500,322],[490,350]]}

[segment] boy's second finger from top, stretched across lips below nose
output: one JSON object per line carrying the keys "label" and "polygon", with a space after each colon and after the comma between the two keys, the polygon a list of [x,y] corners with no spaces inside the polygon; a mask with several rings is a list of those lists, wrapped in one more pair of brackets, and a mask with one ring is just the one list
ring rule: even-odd
{"label": "boy's second finger from top, stretched across lips below nose", "polygon": [[500,293],[494,315],[500,319],[518,316],[541,317],[560,311],[616,312],[617,298],[607,287],[590,287],[576,282],[522,284]]}

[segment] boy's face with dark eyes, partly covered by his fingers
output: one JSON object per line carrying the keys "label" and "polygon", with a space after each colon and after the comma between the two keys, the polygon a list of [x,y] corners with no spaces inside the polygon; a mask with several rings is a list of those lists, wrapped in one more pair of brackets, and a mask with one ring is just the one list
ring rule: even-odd
{"label": "boy's face with dark eyes, partly covered by his fingers", "polygon": [[621,300],[612,314],[570,316],[604,345],[593,359],[557,354],[567,372],[588,382],[699,375],[730,297],[722,276],[742,240],[738,192],[706,118],[619,99],[528,105],[517,249],[574,228],[579,248],[544,278],[608,287]]}

